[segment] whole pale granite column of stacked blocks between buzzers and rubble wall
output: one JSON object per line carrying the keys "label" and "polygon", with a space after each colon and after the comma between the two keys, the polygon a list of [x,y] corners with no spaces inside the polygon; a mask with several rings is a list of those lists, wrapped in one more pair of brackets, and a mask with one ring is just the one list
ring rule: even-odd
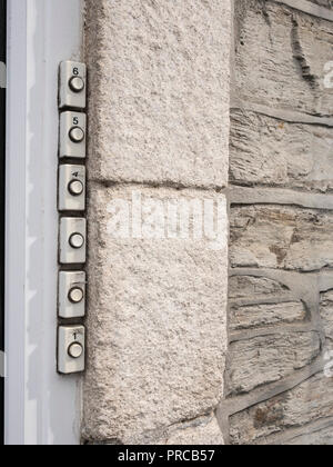
{"label": "whole pale granite column of stacked blocks between buzzers and rubble wall", "polygon": [[87,0],[90,443],[223,444],[230,0]]}

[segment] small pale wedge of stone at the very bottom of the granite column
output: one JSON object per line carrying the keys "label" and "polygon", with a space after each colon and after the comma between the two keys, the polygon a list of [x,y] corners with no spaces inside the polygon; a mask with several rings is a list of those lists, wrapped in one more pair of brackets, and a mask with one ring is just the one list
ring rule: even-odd
{"label": "small pale wedge of stone at the very bottom of the granite column", "polygon": [[224,440],[214,415],[202,417],[195,423],[184,424],[161,440],[162,445],[224,445]]}

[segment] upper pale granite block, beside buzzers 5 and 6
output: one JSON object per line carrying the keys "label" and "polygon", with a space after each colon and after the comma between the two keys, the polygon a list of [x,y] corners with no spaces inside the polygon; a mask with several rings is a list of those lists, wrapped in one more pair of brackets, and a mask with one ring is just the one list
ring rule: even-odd
{"label": "upper pale granite block, beside buzzers 5 and 6", "polygon": [[87,0],[94,180],[224,187],[230,0]]}

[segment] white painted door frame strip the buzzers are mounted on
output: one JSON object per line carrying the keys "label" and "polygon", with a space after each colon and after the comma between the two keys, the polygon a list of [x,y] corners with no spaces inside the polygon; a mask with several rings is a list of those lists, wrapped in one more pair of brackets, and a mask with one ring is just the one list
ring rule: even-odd
{"label": "white painted door frame strip the buzzers are mounted on", "polygon": [[6,444],[74,445],[80,378],[56,371],[58,66],[83,0],[8,0]]}

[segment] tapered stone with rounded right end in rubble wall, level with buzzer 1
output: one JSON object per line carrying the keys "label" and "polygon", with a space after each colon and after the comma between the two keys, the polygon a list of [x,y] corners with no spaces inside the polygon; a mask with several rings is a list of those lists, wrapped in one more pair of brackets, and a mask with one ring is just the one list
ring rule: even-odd
{"label": "tapered stone with rounded right end in rubble wall, level with buzzer 1", "polygon": [[230,393],[249,393],[279,381],[311,364],[319,354],[316,332],[284,332],[233,342],[229,351]]}

